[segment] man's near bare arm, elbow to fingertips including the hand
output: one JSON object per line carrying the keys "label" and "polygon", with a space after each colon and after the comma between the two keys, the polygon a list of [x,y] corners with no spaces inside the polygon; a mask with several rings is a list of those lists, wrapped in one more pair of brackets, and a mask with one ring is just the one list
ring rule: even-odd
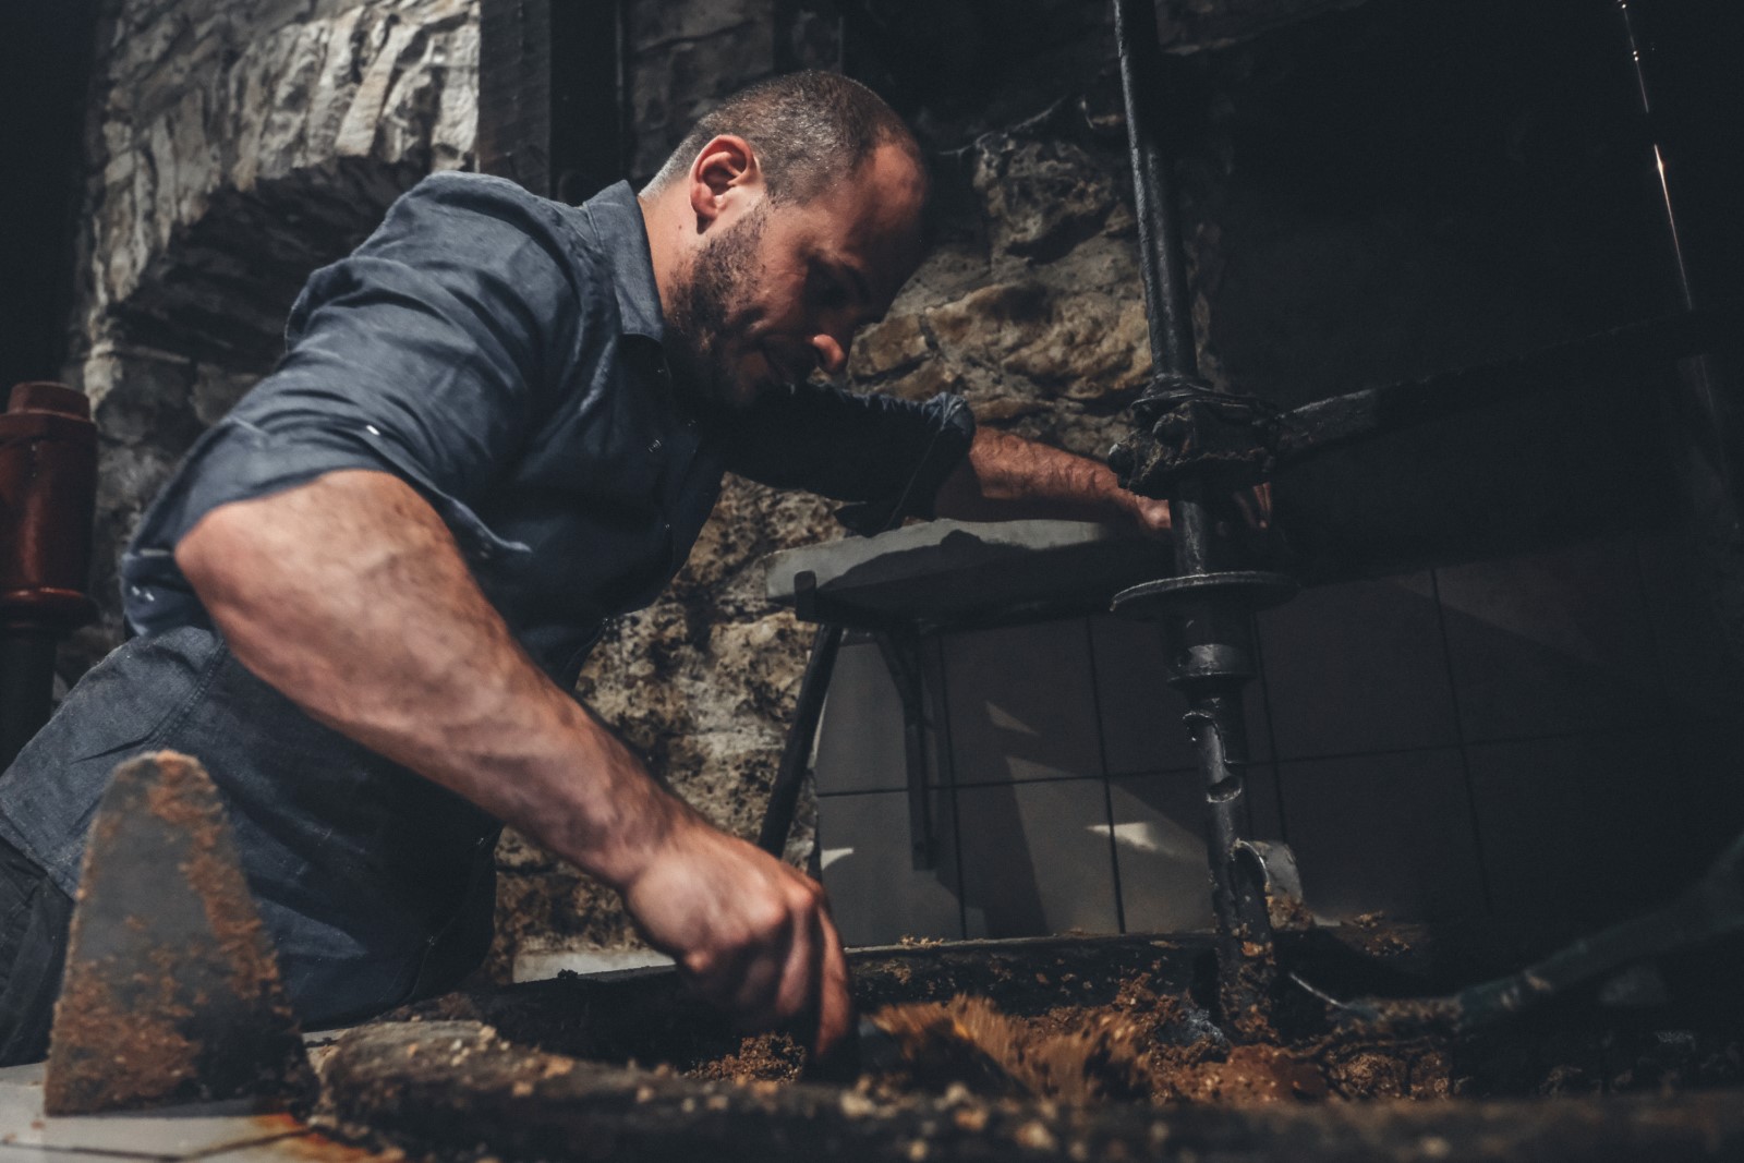
{"label": "man's near bare arm, elbow to fingertips including the hand", "polygon": [[534,666],[399,478],[330,473],[220,506],[176,563],[251,671],[623,893],[703,997],[753,1025],[848,1030],[823,889],[664,792]]}

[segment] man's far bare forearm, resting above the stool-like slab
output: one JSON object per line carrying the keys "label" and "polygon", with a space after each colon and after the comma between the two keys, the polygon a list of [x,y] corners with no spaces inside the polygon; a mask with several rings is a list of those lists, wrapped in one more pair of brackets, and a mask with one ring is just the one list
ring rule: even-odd
{"label": "man's far bare forearm, resting above the stool-like slab", "polygon": [[1168,528],[1168,504],[1128,493],[1106,464],[994,429],[975,432],[968,457],[940,486],[935,511],[964,521],[1059,518]]}

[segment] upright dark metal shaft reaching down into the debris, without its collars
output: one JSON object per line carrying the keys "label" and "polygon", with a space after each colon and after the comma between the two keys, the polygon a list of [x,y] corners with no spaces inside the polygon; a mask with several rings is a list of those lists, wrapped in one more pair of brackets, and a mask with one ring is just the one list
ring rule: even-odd
{"label": "upright dark metal shaft reaching down into the debris, without its collars", "polygon": [[[1198,377],[1191,296],[1181,253],[1181,225],[1168,187],[1162,145],[1162,45],[1151,0],[1114,0],[1114,40],[1132,153],[1134,209],[1139,221],[1139,267],[1158,378]],[[1219,568],[1217,507],[1223,499],[1203,481],[1177,483],[1168,495],[1175,574],[1210,575]],[[1209,581],[1209,577],[1207,577]],[[1236,593],[1216,586],[1165,621],[1174,685],[1188,697],[1186,722],[1205,781],[1207,847],[1212,907],[1217,915],[1217,982],[1224,1022],[1236,1034],[1264,1025],[1275,959],[1264,894],[1249,882],[1235,842],[1243,826],[1242,767],[1247,734],[1242,687],[1254,675],[1250,616]]]}

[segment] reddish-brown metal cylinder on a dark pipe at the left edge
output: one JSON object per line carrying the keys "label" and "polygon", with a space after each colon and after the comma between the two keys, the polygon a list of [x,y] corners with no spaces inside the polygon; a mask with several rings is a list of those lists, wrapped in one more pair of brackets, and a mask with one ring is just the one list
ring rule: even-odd
{"label": "reddish-brown metal cylinder on a dark pipe at the left edge", "polygon": [[49,717],[54,642],[89,621],[98,431],[63,384],[19,384],[0,413],[0,767]]}

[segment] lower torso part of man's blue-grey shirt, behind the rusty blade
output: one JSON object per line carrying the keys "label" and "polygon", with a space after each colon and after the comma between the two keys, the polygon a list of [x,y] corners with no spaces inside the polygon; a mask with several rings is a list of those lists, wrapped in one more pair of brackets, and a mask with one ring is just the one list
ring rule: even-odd
{"label": "lower torso part of man's blue-grey shirt, behind the rusty blade", "polygon": [[436,992],[485,956],[497,821],[316,724],[197,626],[134,638],[85,675],[0,776],[0,840],[75,893],[110,771],[160,748],[218,785],[305,1022]]}

